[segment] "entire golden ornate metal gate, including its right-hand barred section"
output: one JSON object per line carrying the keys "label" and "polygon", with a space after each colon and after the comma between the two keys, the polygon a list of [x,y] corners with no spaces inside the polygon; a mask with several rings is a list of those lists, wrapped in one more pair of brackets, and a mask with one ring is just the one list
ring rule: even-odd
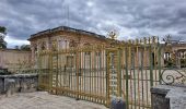
{"label": "entire golden ornate metal gate, including its right-hand barred section", "polygon": [[147,109],[151,107],[150,87],[160,84],[161,50],[153,37],[42,51],[39,87],[106,106],[113,96],[121,97],[129,109]]}

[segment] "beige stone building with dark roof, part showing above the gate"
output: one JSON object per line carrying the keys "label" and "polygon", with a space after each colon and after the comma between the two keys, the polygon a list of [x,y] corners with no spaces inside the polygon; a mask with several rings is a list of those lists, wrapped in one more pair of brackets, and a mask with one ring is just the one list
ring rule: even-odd
{"label": "beige stone building with dark roof, part showing above the gate", "polygon": [[[36,33],[31,35],[28,39],[31,41],[32,49],[32,61],[38,65],[37,52],[44,50],[62,50],[69,49],[71,47],[83,47],[91,45],[107,45],[107,40],[105,36],[97,35],[95,33],[75,29],[67,26],[60,26],[51,29],[47,29],[44,32]],[[67,62],[68,64],[68,59]],[[66,61],[63,60],[63,61]],[[46,58],[47,61],[47,58]],[[47,68],[47,64],[45,65]]]}

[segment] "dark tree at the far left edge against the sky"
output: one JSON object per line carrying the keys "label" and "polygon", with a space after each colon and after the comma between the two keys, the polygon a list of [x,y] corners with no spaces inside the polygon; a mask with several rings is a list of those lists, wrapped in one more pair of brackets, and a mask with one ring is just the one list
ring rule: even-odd
{"label": "dark tree at the far left edge against the sky", "polygon": [[0,26],[0,48],[7,48],[7,43],[4,41],[4,37],[7,28],[4,26]]}

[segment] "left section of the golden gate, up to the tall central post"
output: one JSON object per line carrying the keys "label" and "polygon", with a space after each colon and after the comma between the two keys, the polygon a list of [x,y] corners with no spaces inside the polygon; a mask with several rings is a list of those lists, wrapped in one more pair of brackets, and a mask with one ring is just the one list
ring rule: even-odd
{"label": "left section of the golden gate, up to the tall central post", "polygon": [[[105,52],[103,46],[40,52],[39,87],[53,94],[106,104]],[[47,66],[46,74],[43,69]]]}

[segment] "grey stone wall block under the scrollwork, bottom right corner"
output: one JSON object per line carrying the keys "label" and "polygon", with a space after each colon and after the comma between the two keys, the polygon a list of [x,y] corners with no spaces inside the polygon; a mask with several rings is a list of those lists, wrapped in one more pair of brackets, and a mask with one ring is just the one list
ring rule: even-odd
{"label": "grey stone wall block under the scrollwork, bottom right corner", "polygon": [[186,109],[186,86],[159,85],[151,96],[152,109]]}

